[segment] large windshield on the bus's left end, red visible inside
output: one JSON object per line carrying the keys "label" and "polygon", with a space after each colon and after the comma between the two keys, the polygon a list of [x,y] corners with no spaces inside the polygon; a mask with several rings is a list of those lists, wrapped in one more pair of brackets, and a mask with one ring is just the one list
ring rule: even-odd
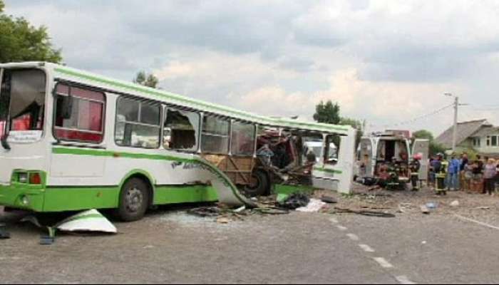
{"label": "large windshield on the bus's left end, red visible inside", "polygon": [[43,130],[45,73],[5,69],[0,90],[0,137],[8,131]]}

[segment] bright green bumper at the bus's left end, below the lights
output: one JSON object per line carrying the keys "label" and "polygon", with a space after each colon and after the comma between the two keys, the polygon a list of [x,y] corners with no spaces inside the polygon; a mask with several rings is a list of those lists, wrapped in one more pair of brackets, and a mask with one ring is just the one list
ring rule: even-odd
{"label": "bright green bumper at the bus's left end, below the lights", "polygon": [[14,209],[43,211],[45,189],[41,185],[11,183],[0,185],[0,205]]}

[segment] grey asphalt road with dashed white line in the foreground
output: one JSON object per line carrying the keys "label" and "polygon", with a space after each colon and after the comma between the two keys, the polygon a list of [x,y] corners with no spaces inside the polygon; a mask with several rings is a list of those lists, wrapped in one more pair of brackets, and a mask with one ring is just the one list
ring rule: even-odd
{"label": "grey asphalt road with dashed white line in the foreground", "polygon": [[[2,218],[0,217],[0,220]],[[116,235],[8,224],[1,283],[494,283],[499,230],[455,217],[254,215],[217,224],[162,209]]]}

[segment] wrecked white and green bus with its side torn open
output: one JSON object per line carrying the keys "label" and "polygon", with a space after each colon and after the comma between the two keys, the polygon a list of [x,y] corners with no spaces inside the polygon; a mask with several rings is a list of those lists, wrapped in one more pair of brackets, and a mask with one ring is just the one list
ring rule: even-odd
{"label": "wrecked white and green bus with its side torn open", "polygon": [[[6,209],[113,209],[134,221],[160,204],[253,207],[249,197],[293,187],[351,188],[349,126],[267,118],[53,63],[0,64],[0,86]],[[322,142],[319,163],[304,159],[307,138]]]}

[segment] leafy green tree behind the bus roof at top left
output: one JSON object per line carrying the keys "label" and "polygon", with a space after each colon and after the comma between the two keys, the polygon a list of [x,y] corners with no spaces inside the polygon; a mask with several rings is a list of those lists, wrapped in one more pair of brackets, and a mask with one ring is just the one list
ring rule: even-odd
{"label": "leafy green tree behind the bus roof at top left", "polygon": [[35,27],[23,17],[3,13],[0,0],[0,62],[49,61],[61,63],[61,50],[54,49],[45,26]]}

